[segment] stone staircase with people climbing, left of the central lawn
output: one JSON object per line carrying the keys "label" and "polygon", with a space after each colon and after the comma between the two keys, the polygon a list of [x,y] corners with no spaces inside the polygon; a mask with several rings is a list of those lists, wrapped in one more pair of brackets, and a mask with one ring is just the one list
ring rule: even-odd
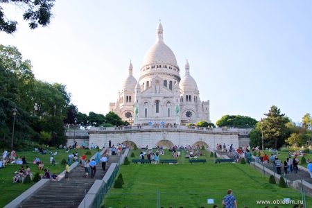
{"label": "stone staircase with people climbing, left of the central lawn", "polygon": [[101,162],[96,166],[95,177],[85,177],[85,168],[77,166],[69,173],[69,181],[64,178],[58,182],[49,181],[33,196],[21,203],[20,207],[78,207],[85,193],[97,179],[102,179],[110,164],[118,162],[119,156],[110,156],[105,171]]}

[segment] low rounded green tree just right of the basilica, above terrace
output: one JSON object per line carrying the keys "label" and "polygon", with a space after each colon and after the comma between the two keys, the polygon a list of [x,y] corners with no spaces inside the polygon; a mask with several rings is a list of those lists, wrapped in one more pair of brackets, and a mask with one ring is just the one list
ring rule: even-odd
{"label": "low rounded green tree just right of the basilica, above terrace", "polygon": [[232,127],[232,128],[254,128],[258,121],[249,116],[231,116],[225,115],[221,119],[216,121],[216,125],[219,127]]}

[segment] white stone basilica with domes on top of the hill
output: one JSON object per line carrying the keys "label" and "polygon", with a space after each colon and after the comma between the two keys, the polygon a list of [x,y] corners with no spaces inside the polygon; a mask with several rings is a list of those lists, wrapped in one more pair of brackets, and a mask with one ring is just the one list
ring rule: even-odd
{"label": "white stone basilica with domes on top of the hill", "polygon": [[164,43],[160,22],[156,43],[145,55],[138,81],[132,76],[132,70],[130,62],[129,75],[122,84],[119,98],[116,103],[110,103],[110,111],[123,121],[133,125],[210,122],[209,101],[200,101],[189,62],[185,64],[184,77],[180,78],[175,55]]}

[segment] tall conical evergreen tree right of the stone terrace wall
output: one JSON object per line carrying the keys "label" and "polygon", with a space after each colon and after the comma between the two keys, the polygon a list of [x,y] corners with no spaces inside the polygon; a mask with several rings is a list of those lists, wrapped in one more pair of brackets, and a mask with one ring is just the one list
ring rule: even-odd
{"label": "tall conical evergreen tree right of the stone terrace wall", "polygon": [[268,114],[264,114],[266,119],[263,119],[263,138],[268,141],[270,146],[279,148],[284,144],[286,135],[286,123],[290,121],[285,114],[281,114],[281,110],[272,105]]}

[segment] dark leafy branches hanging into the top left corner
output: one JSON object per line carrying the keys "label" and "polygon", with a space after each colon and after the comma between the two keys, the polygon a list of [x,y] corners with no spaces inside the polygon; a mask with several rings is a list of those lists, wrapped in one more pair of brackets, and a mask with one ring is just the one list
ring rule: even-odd
{"label": "dark leafy branches hanging into the top left corner", "polygon": [[[1,0],[0,3],[14,3],[17,7],[23,8],[23,18],[29,21],[29,28],[35,29],[38,25],[47,26],[50,24],[55,0]],[[17,21],[7,20],[3,8],[0,6],[0,31],[14,33]]]}

